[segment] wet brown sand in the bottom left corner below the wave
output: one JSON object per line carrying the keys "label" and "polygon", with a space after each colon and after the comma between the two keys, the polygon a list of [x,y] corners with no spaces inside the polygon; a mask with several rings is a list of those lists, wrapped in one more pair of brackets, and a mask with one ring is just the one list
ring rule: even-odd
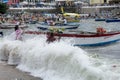
{"label": "wet brown sand in the bottom left corner below the wave", "polygon": [[0,62],[0,80],[42,80],[31,76],[29,73],[16,69],[5,62]]}

